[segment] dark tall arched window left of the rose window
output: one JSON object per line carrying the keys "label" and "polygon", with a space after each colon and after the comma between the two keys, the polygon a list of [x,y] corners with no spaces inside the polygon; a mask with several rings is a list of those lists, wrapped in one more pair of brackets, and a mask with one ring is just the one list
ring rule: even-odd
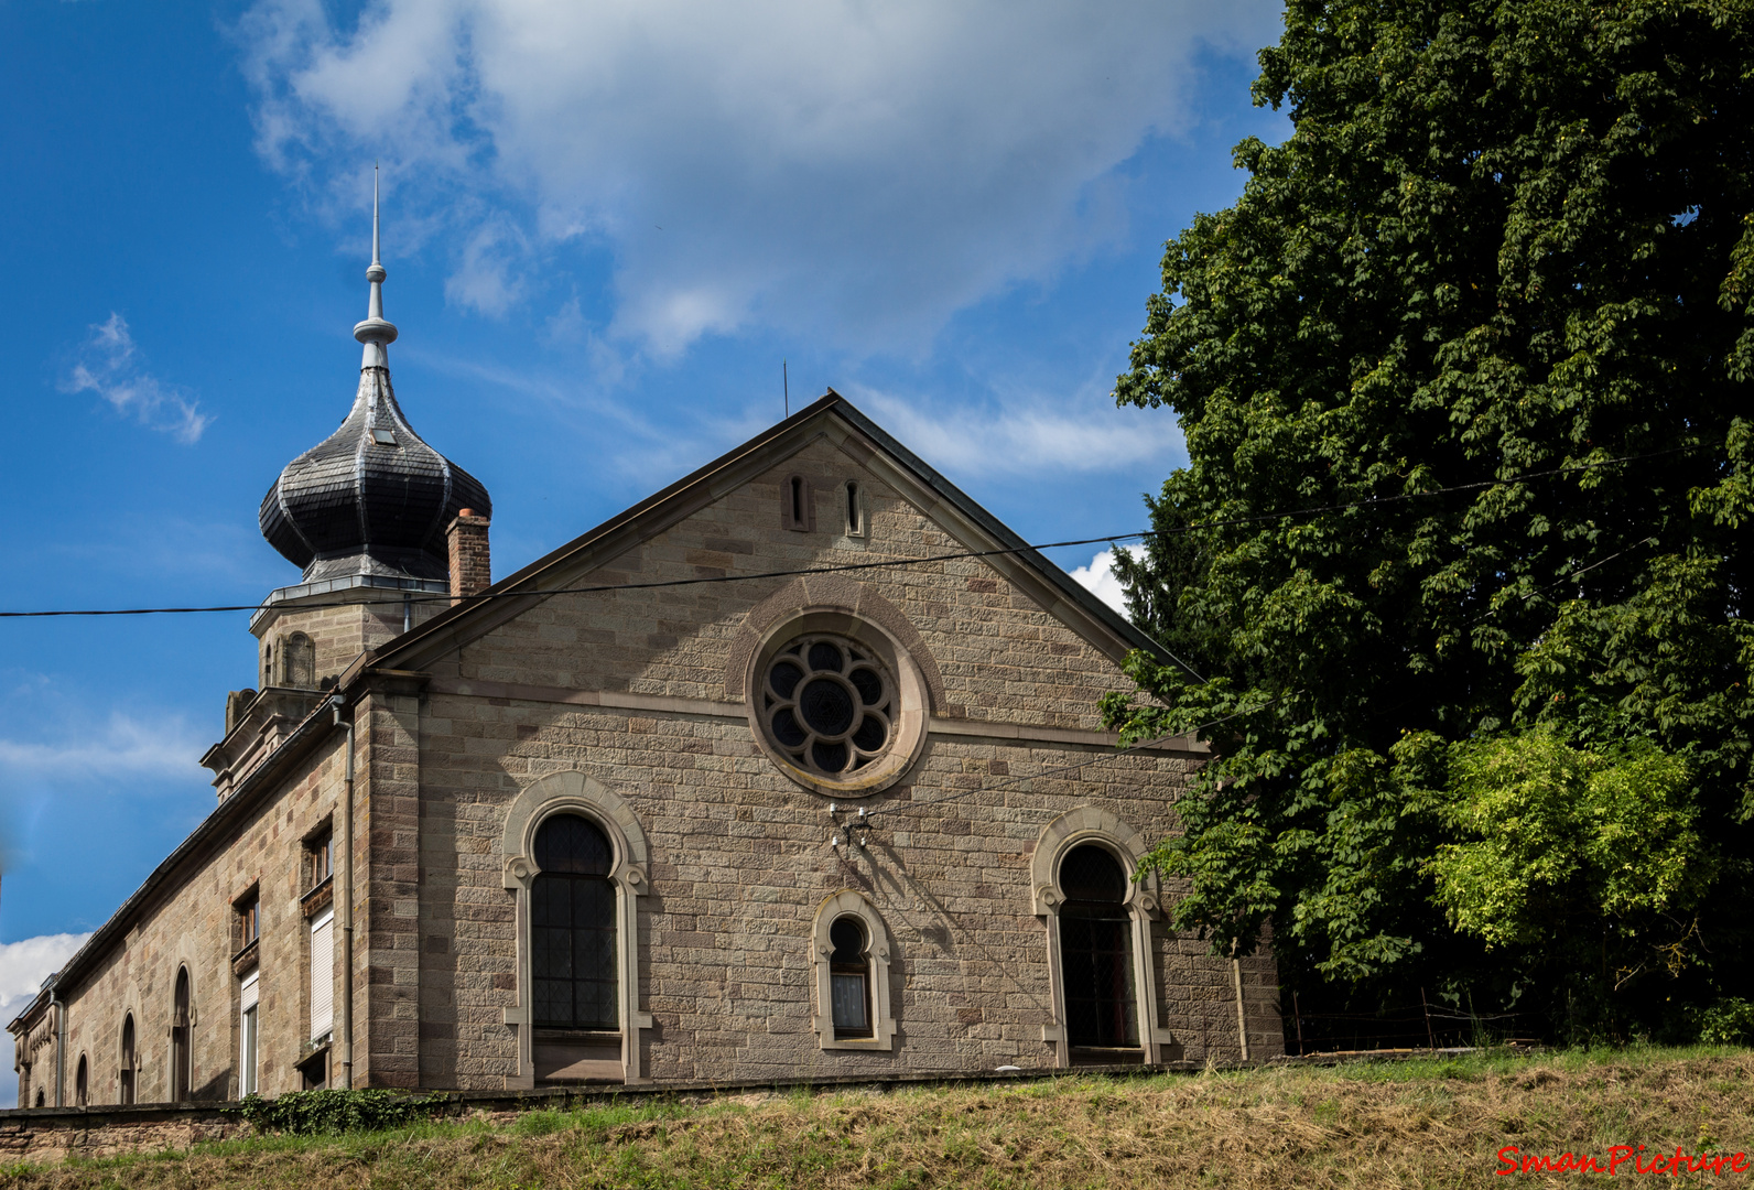
{"label": "dark tall arched window left of the rose window", "polygon": [[614,848],[596,823],[554,814],[537,830],[530,976],[537,1029],[621,1029]]}

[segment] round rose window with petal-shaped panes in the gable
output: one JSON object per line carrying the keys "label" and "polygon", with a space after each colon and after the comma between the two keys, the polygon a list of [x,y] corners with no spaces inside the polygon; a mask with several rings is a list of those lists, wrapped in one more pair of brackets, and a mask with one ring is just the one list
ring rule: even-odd
{"label": "round rose window with petal-shaped panes in the gable", "polygon": [[852,641],[802,637],[768,663],[761,718],[774,746],[800,769],[845,776],[889,746],[895,683]]}

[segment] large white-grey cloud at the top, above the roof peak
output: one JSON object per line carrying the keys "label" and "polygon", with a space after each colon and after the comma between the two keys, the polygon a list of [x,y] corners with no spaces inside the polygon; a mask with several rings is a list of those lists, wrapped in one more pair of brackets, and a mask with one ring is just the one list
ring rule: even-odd
{"label": "large white-grey cloud at the top, above the roof peak", "polygon": [[[1196,54],[1273,0],[260,0],[239,23],[263,156],[460,244],[502,312],[563,244],[614,260],[610,332],[667,355],[751,323],[859,349],[1124,232],[1116,167],[1189,126]],[[346,198],[342,198],[346,195]],[[516,228],[516,233],[510,233]],[[558,263],[556,263],[558,262]]]}

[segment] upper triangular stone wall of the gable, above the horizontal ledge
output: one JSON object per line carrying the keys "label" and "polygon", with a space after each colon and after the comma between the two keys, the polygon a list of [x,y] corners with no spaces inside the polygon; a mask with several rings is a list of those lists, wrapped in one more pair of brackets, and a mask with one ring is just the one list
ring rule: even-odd
{"label": "upper triangular stone wall of the gable, above the horizontal ledge", "polygon": [[[814,476],[819,532],[781,527],[786,476]],[[842,484],[858,479],[870,535],[840,534]],[[870,469],[816,441],[637,549],[588,583],[654,583],[758,574],[965,549]],[[940,714],[1002,723],[1098,728],[1096,699],[1124,681],[1116,665],[984,560],[851,574],[917,628],[952,688]],[[786,579],[668,590],[556,595],[472,642],[435,674],[575,690],[628,690],[726,700],[731,641],[749,609]]]}

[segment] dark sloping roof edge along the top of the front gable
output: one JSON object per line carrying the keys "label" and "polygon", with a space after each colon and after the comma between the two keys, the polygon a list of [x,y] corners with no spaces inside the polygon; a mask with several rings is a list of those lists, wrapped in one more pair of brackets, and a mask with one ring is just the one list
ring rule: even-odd
{"label": "dark sloping roof edge along the top of the front gable", "polygon": [[[1145,649],[1159,662],[1180,663],[1168,649],[1133,627],[1121,613],[1086,590],[1003,521],[980,507],[968,493],[940,476],[888,430],[863,414],[851,400],[830,388],[814,404],[768,427],[742,446],[726,451],[705,467],[677,479],[668,488],[645,497],[596,528],[581,534],[521,570],[505,576],[475,600],[451,607],[414,630],[384,642],[374,653],[354,662],[347,674],[342,676],[342,683],[346,685],[365,669],[403,669],[407,667],[403,658],[428,651],[437,641],[444,641],[444,648],[451,648],[460,637],[467,639],[477,630],[486,630],[516,616],[517,611],[528,606],[524,600],[516,599],[516,595],[528,593],[531,599],[540,599],[545,593],[542,579],[553,577],[556,570],[574,569],[581,563],[589,567],[591,555],[598,553],[609,542],[631,544],[656,535],[698,507],[705,498],[716,498],[752,474],[766,470],[795,453],[814,437],[819,423],[830,418],[838,418],[847,428],[863,437],[870,448],[888,455],[903,474],[914,479],[919,493],[930,493],[935,505],[952,511],[954,518],[965,521],[975,537],[986,539],[970,544],[973,549],[995,551],[988,562],[995,563],[996,569],[1014,570],[1021,567],[1021,576],[1010,574],[1007,577],[1033,577],[1035,584],[1044,588],[1037,595],[1047,595],[1045,602],[1051,607],[1059,604],[1061,620],[1068,620],[1068,627],[1103,648],[1116,662],[1128,649]],[[619,553],[619,549],[614,553]],[[1075,623],[1079,620],[1084,623]]]}

